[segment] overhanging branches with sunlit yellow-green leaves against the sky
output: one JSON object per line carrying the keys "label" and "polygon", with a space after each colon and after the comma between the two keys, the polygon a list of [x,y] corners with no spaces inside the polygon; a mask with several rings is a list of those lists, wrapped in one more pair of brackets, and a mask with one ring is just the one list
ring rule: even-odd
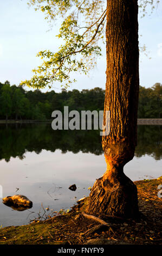
{"label": "overhanging branches with sunlit yellow-green leaves against the sky", "polygon": [[[159,0],[139,0],[143,15],[148,5],[155,8]],[[42,50],[37,56],[43,59],[40,66],[33,70],[31,80],[22,84],[33,88],[51,88],[54,82],[68,87],[75,82],[73,72],[87,74],[101,56],[101,41],[105,40],[106,1],[105,0],[28,0],[35,10],[45,14],[52,26],[57,19],[61,26],[57,38],[61,45],[57,52]]]}

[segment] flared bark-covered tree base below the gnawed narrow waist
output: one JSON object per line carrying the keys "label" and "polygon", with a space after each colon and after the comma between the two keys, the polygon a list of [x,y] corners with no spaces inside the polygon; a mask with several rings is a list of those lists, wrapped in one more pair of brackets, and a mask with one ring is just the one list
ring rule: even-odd
{"label": "flared bark-covered tree base below the gnawed narrow waist", "polygon": [[103,175],[95,181],[86,212],[95,216],[138,218],[137,187],[124,173],[115,178]]}

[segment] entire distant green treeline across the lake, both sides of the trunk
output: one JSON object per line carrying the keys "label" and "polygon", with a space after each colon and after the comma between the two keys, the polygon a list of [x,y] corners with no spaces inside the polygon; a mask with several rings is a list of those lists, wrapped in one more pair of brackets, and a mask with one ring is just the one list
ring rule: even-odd
{"label": "entire distant green treeline across the lake, both sides of the trunk", "polygon": [[[49,120],[54,110],[63,111],[64,106],[71,110],[103,110],[105,90],[62,89],[61,93],[51,90],[27,91],[22,86],[10,86],[6,81],[0,83],[0,119]],[[140,86],[138,118],[162,118],[162,84],[155,83],[152,88]]]}

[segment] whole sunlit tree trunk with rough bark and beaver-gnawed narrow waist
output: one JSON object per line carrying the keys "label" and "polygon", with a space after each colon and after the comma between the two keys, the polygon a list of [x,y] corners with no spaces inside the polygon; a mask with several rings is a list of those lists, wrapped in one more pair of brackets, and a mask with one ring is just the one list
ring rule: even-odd
{"label": "whole sunlit tree trunk with rough bark and beaver-gnawed narrow waist", "polygon": [[[102,137],[107,170],[96,180],[87,212],[134,218],[139,214],[137,187],[124,174],[137,144],[139,95],[138,1],[107,0],[105,113],[110,132]],[[106,124],[104,115],[104,124]]]}

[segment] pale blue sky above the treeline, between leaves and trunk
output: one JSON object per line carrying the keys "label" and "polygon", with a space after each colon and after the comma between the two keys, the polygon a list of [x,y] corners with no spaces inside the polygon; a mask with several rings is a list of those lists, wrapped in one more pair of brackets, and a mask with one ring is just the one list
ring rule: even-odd
{"label": "pale blue sky above the treeline, between leaves and trunk", "polygon": [[[162,83],[162,0],[154,13],[144,18],[139,14],[139,44],[146,45],[148,56],[140,53],[140,85],[146,88],[154,83]],[[40,50],[57,51],[60,40],[55,38],[57,26],[51,31],[44,20],[43,13],[28,7],[27,0],[0,0],[0,82],[6,80],[10,84],[20,84],[30,79],[32,69],[41,64],[36,57]],[[105,89],[106,83],[106,51],[98,59],[95,69],[89,77],[75,75],[76,83],[70,85],[73,89]],[[151,58],[151,59],[150,59]],[[28,89],[29,88],[25,88]],[[53,85],[55,92],[61,91],[59,83]],[[47,92],[43,89],[43,92]]]}

